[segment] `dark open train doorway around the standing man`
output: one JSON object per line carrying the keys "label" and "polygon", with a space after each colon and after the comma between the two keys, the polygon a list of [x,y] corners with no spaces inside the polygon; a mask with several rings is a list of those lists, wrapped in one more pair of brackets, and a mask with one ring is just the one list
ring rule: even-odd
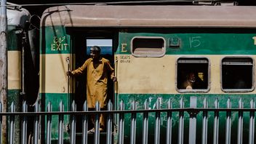
{"label": "dark open train doorway around the standing man", "polygon": [[[73,46],[73,54],[75,55],[73,57],[73,60],[75,60],[75,63],[73,63],[73,70],[76,68],[79,68],[81,65],[84,64],[84,62],[90,58],[90,48],[92,46],[98,46],[101,49],[100,57],[104,57],[105,59],[109,60],[111,62],[111,66],[113,67],[113,35],[99,36],[98,34],[96,36],[92,35],[91,33],[80,33],[76,36],[73,36],[72,39],[72,46]],[[74,94],[73,94],[73,100],[76,102],[76,111],[83,111],[83,105],[84,101],[87,100],[87,74],[84,73],[81,76],[76,76],[76,79],[74,81]],[[111,81],[110,78],[108,78],[108,100],[111,100],[113,102],[113,81]],[[81,134],[81,117],[77,118],[76,123],[76,133],[77,135]],[[92,129],[94,125],[92,124],[92,121],[89,119],[88,123],[88,130]]]}

